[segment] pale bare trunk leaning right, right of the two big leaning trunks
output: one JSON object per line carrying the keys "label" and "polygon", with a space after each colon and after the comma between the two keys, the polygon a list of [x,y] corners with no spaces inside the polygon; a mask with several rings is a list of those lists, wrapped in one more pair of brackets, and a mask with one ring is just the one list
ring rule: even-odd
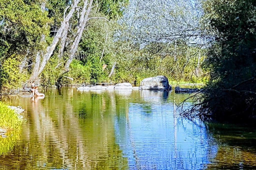
{"label": "pale bare trunk leaning right, right of the two big leaning trunks", "polygon": [[[79,23],[79,28],[77,29],[76,37],[75,37],[75,39],[74,39],[74,41],[73,41],[73,43],[71,45],[69,58],[68,58],[67,62],[65,63],[64,70],[63,70],[62,74],[64,74],[64,73],[69,71],[69,66],[70,66],[70,64],[71,64],[71,62],[72,62],[72,60],[74,58],[74,55],[75,55],[75,53],[77,51],[78,44],[79,44],[79,42],[81,40],[81,37],[83,35],[83,30],[84,30],[84,28],[86,26],[86,23],[88,21],[88,17],[89,17],[91,8],[92,8],[92,3],[93,3],[93,0],[90,0],[89,6],[88,6],[87,11],[86,11],[86,15],[84,16],[84,14],[83,14],[84,17],[81,16],[81,18],[80,18],[81,22]],[[84,7],[86,9],[85,5],[87,6],[87,4],[86,3],[84,4]]]}

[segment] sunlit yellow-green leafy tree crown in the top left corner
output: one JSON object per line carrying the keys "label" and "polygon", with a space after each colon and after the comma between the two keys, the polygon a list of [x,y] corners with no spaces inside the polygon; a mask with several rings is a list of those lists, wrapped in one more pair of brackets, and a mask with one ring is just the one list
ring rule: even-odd
{"label": "sunlit yellow-green leafy tree crown in the top left corner", "polygon": [[41,35],[48,35],[47,12],[38,5],[27,5],[22,0],[0,1],[0,65],[14,53],[25,53],[28,48],[42,48]]}

